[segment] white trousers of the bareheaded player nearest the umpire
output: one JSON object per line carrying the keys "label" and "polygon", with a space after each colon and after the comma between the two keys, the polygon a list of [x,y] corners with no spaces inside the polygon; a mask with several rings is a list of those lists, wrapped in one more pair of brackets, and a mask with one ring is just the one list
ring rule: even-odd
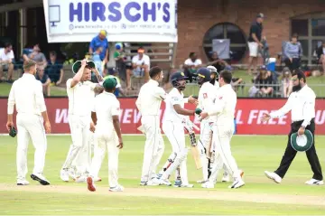
{"label": "white trousers of the bareheaded player nearest the umpire", "polygon": [[211,176],[217,176],[218,171],[222,168],[222,165],[225,164],[229,174],[231,174],[235,179],[240,177],[236,160],[230,150],[230,140],[235,129],[234,122],[229,121],[227,124],[214,125],[212,128],[213,141],[216,146],[216,155]]}

